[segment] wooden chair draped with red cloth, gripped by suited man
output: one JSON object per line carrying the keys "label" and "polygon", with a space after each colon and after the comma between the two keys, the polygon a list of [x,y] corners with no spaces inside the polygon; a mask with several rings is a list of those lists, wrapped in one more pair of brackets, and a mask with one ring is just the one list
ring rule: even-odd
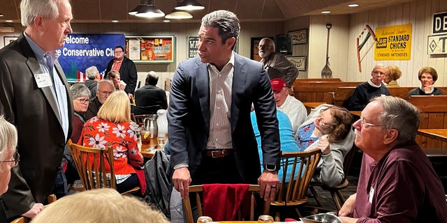
{"label": "wooden chair draped with red cloth, gripped by suited man", "polygon": [[[251,192],[251,200],[250,200],[250,221],[254,221],[254,208],[255,208],[255,197],[254,192],[259,192],[260,187],[259,185],[250,185],[249,186],[249,192]],[[194,197],[196,199],[197,208],[198,208],[198,217],[203,216],[203,210],[202,210],[202,201],[201,201],[201,193],[203,192],[203,185],[191,185],[189,186],[189,194],[194,194]],[[189,195],[191,196],[191,195]],[[193,213],[191,209],[191,201],[189,200],[189,197],[186,197],[182,199],[183,207],[184,207],[184,213],[186,217],[186,223],[195,223],[193,220]],[[264,202],[264,210],[263,214],[268,215],[270,203]],[[236,220],[241,220],[241,213],[237,213]]]}

